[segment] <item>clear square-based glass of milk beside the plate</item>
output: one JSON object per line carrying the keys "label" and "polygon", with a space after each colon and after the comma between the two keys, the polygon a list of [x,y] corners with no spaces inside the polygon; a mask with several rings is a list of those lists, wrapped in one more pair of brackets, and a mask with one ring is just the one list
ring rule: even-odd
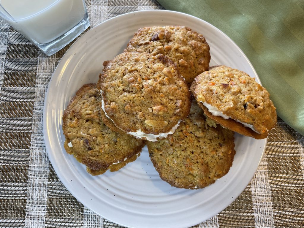
{"label": "clear square-based glass of milk beside the plate", "polygon": [[84,0],[0,0],[0,16],[47,55],[90,26]]}

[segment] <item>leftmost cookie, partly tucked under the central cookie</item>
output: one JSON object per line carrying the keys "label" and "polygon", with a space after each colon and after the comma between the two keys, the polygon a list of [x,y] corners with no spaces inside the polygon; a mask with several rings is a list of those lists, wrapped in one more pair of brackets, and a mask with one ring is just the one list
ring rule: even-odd
{"label": "leftmost cookie, partly tucked under the central cookie", "polygon": [[64,147],[87,166],[92,175],[116,171],[134,161],[143,140],[109,129],[100,117],[100,91],[96,84],[82,86],[63,114]]}

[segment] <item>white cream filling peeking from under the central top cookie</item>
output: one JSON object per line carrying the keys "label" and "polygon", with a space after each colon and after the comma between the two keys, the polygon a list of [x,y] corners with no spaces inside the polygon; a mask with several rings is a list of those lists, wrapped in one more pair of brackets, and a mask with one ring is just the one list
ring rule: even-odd
{"label": "white cream filling peeking from under the central top cookie", "polygon": [[[101,89],[100,89],[100,94],[101,94],[101,109],[105,113],[105,116],[108,117],[110,120],[112,120],[107,115],[107,113],[105,112],[105,102],[103,100],[102,90]],[[112,122],[114,123],[113,120],[112,120]],[[178,120],[178,123],[174,127],[172,127],[172,129],[169,132],[167,132],[167,133],[159,133],[158,135],[154,135],[154,134],[150,134],[150,133],[144,133],[144,132],[141,131],[141,129],[139,129],[136,132],[127,132],[127,134],[133,135],[133,136],[135,136],[137,138],[140,138],[140,139],[146,138],[146,140],[148,140],[148,141],[155,142],[155,141],[157,141],[157,138],[163,139],[163,138],[167,138],[168,135],[173,134],[175,132],[175,130],[178,128],[180,122],[181,122],[181,119]],[[114,123],[114,125],[116,126],[115,123]]]}

